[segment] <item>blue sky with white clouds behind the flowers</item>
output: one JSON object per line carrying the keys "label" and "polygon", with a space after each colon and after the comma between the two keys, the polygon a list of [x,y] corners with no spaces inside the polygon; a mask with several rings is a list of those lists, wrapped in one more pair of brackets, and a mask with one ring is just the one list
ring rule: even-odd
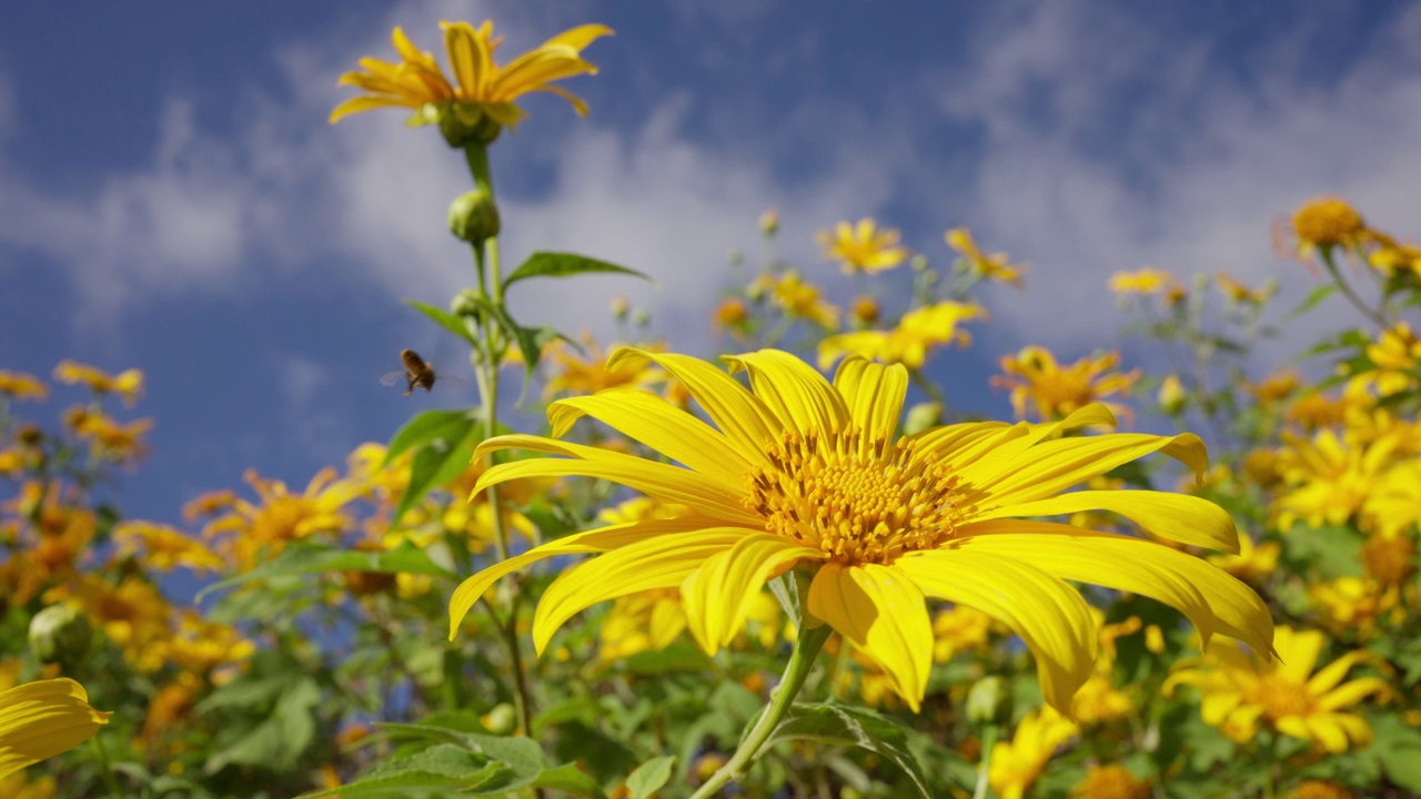
{"label": "blue sky with white clouds behind the flowers", "polygon": [[[617,37],[495,149],[507,250],[568,249],[661,280],[513,297],[607,333],[627,290],[676,348],[706,353],[723,253],[779,208],[784,254],[877,216],[942,263],[969,225],[1033,263],[1025,293],[939,361],[1006,412],[990,364],[1025,343],[1117,345],[1101,287],[1154,264],[1285,279],[1269,225],[1333,192],[1421,232],[1421,6],[1198,3],[11,3],[0,7],[0,368],[72,357],[149,375],[155,455],[124,506],[176,520],[242,471],[296,485],[416,408],[377,382],[438,351],[401,297],[469,277],[443,230],[456,155],[401,114],[325,124],[335,77],[402,24],[492,17],[510,51],[583,21]],[[691,320],[691,321],[686,321]],[[450,350],[452,354],[452,350]],[[946,374],[951,370],[951,374]],[[63,407],[63,402],[54,405]],[[58,407],[51,408],[57,411]]]}

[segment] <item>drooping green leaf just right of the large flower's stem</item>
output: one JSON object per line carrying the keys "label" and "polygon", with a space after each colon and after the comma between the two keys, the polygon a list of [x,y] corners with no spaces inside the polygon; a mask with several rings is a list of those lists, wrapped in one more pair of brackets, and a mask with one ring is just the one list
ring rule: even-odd
{"label": "drooping green leaf just right of the large flower's stem", "polygon": [[793,705],[764,745],[782,741],[818,741],[836,746],[860,746],[898,763],[908,772],[918,795],[932,799],[928,778],[908,748],[908,728],[867,708],[824,702]]}

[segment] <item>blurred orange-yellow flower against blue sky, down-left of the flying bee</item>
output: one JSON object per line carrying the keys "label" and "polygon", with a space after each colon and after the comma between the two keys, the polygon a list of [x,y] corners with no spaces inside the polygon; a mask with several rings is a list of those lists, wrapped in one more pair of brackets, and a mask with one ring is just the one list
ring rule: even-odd
{"label": "blurred orange-yellow flower against blue sky, down-left of the flying bee", "polygon": [[237,499],[232,509],[203,529],[205,537],[223,536],[219,547],[232,567],[249,570],[263,556],[281,552],[287,543],[320,532],[350,527],[341,513],[351,500],[365,493],[358,481],[335,479],[335,469],[325,468],[311,478],[303,493],[291,493],[281,481],[269,481],[247,469],[247,485],[256,489],[260,505]]}

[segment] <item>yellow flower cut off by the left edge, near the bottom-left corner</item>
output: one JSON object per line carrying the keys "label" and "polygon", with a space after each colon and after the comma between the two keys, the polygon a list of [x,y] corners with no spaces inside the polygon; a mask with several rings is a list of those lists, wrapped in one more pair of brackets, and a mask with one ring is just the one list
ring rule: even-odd
{"label": "yellow flower cut off by the left edge, near the bottom-left corner", "polygon": [[0,694],[0,776],[88,741],[112,714],[95,711],[78,682],[38,680]]}

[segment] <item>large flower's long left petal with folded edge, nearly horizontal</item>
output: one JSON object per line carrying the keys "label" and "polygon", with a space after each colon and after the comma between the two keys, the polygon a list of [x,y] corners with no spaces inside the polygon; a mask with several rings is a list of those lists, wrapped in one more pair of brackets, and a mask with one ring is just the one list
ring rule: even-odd
{"label": "large flower's long left petal with folded edge, nearly horizontal", "polygon": [[763,527],[764,525],[759,516],[745,509],[743,499],[747,496],[746,489],[733,490],[725,483],[706,478],[699,472],[672,466],[671,463],[658,463],[645,458],[637,458],[635,455],[622,455],[621,452],[536,435],[500,435],[490,438],[475,449],[475,459],[497,449],[531,449],[534,452],[567,455],[568,458],[529,458],[499,463],[479,476],[473,493],[479,493],[490,485],[520,478],[601,478],[637,489],[647,496],[664,502],[689,505],[702,513],[723,519],[725,522],[755,527]]}

